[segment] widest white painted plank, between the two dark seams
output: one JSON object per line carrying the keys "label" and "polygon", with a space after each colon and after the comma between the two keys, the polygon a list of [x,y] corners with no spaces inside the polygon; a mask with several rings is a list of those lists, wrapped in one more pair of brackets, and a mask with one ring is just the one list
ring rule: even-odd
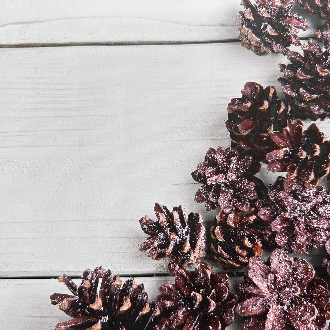
{"label": "widest white painted plank, between the two dark seams", "polygon": [[164,272],[139,218],[160,202],[213,220],[190,173],[230,145],[230,99],[280,87],[284,60],[238,43],[0,49],[0,276]]}

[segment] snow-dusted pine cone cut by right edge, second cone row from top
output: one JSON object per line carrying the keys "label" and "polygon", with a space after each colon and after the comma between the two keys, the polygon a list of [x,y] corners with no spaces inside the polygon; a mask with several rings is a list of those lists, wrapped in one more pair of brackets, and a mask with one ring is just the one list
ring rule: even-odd
{"label": "snow-dusted pine cone cut by right edge, second cone row from top", "polygon": [[304,56],[296,51],[288,53],[292,64],[279,64],[284,78],[279,78],[283,93],[292,105],[294,118],[324,120],[330,117],[330,31],[329,24],[324,32],[316,32],[323,40],[320,48],[314,39],[303,44]]}

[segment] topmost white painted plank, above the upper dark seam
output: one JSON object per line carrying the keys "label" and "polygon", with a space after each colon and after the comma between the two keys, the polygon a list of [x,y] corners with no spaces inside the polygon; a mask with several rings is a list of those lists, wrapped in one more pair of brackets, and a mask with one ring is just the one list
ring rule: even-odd
{"label": "topmost white painted plank, above the upper dark seam", "polygon": [[[0,44],[200,42],[237,39],[240,0],[11,0]],[[303,14],[301,8],[297,12]],[[323,21],[311,18],[314,36]]]}

